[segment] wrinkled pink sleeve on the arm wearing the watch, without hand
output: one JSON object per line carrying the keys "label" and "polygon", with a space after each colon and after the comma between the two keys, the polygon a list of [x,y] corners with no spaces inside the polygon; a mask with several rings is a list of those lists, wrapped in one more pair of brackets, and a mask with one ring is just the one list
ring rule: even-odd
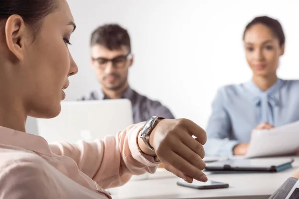
{"label": "wrinkled pink sleeve on the arm wearing the watch, without hand", "polygon": [[[137,136],[144,123],[132,125],[116,137],[106,136],[93,142],[76,144],[59,142],[50,145],[53,153],[73,159],[79,169],[102,188],[117,187],[128,182],[132,175],[154,173],[158,160],[141,153]],[[154,154],[153,154],[154,155]]]}

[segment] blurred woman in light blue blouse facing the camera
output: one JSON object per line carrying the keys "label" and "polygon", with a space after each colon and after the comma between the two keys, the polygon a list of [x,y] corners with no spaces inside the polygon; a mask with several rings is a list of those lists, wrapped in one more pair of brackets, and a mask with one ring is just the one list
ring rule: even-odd
{"label": "blurred woman in light blue blouse facing the camera", "polygon": [[212,104],[206,129],[206,154],[245,155],[255,128],[272,128],[299,120],[299,81],[277,77],[279,59],[285,50],[285,35],[279,21],[253,19],[244,31],[250,82],[221,88]]}

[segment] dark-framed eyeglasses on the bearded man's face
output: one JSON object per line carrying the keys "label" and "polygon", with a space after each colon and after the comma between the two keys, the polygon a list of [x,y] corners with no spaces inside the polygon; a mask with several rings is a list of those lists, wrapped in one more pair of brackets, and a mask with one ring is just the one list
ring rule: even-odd
{"label": "dark-framed eyeglasses on the bearded man's face", "polygon": [[120,55],[113,59],[106,59],[106,58],[92,58],[92,61],[94,62],[94,65],[98,67],[99,69],[105,70],[107,67],[108,62],[112,63],[112,66],[116,69],[123,69],[126,66],[126,62],[130,59],[132,59],[133,55],[130,52],[127,55]]}

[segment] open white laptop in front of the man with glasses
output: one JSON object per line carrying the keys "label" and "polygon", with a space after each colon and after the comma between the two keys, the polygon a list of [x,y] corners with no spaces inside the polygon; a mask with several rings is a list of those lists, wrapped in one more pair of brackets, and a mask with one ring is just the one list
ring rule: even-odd
{"label": "open white laptop in front of the man with glasses", "polygon": [[60,114],[37,119],[38,134],[48,143],[79,140],[93,141],[116,135],[133,124],[130,100],[63,101]]}

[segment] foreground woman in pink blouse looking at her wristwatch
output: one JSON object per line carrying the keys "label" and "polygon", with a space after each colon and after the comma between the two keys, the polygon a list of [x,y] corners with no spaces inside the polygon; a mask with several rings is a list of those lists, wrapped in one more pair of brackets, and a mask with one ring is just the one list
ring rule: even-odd
{"label": "foreground woman in pink blouse looking at her wristwatch", "polygon": [[28,115],[60,112],[78,72],[68,50],[75,28],[66,0],[0,0],[0,199],[111,198],[104,189],[159,163],[187,182],[207,181],[206,134],[187,119],[154,118],[76,144],[24,133]]}

